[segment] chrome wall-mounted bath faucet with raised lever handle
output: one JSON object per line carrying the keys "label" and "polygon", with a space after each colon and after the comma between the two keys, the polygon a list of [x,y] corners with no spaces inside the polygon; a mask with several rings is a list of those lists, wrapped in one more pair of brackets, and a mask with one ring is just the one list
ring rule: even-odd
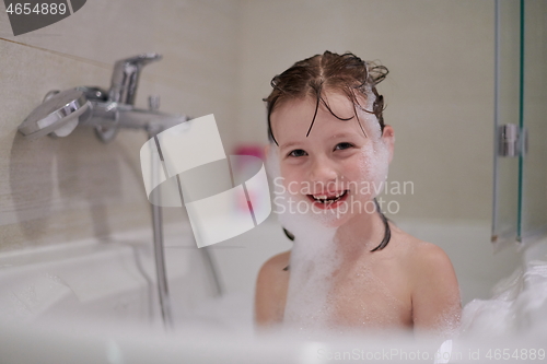
{"label": "chrome wall-mounted bath faucet with raised lever handle", "polygon": [[158,54],[143,54],[116,61],[108,92],[90,86],[48,92],[19,131],[30,139],[45,134],[67,137],[75,127],[85,126],[95,128],[98,139],[109,142],[120,128],[144,129],[153,137],[187,121],[184,115],[158,111],[158,98],[151,98],[149,109],[135,107],[142,68],[161,58]]}

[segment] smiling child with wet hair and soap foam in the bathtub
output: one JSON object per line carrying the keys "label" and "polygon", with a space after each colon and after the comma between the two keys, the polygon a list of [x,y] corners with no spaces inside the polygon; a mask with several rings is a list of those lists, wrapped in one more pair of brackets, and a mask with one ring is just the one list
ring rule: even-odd
{"label": "smiling child with wet hair and soap foam in the bathtub", "polygon": [[294,247],[258,273],[258,326],[457,327],[459,290],[449,257],[394,225],[375,200],[395,141],[375,87],[386,74],[352,54],[325,51],[271,80],[267,165]]}

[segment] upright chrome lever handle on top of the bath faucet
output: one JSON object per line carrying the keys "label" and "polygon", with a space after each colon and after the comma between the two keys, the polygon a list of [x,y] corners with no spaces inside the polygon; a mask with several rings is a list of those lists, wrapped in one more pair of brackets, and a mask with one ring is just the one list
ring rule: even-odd
{"label": "upright chrome lever handle on top of the bath faucet", "polygon": [[159,54],[142,54],[116,61],[108,98],[116,103],[133,105],[141,69],[161,59]]}

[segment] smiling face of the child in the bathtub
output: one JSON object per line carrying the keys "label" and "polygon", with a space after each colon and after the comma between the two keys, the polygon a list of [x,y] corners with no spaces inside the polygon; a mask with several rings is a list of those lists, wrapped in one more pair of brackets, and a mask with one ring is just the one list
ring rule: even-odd
{"label": "smiling face of the child in the bathtub", "polygon": [[[299,210],[306,203],[307,213],[329,215],[327,224],[339,226],[356,214],[375,211],[372,199],[383,189],[394,133],[389,126],[382,133],[377,118],[359,107],[358,121],[344,94],[326,93],[324,98],[338,117],[353,118],[340,120],[322,104],[306,137],[315,101],[304,98],[283,102],[270,120],[284,188]],[[364,99],[361,104],[366,105]]]}

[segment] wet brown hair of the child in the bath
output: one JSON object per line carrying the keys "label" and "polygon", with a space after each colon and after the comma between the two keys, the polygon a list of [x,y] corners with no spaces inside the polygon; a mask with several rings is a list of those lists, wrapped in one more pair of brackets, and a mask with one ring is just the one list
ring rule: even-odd
{"label": "wet brown hair of the child in the bath", "polygon": [[[271,130],[271,113],[274,113],[276,106],[287,101],[302,99],[305,97],[315,98],[315,111],[306,137],[310,134],[315,122],[321,103],[323,103],[327,110],[337,119],[344,121],[353,119],[353,117],[341,118],[330,109],[330,106],[324,98],[324,92],[326,90],[342,93],[351,101],[353,104],[354,117],[365,137],[366,132],[359,120],[357,108],[369,114],[374,114],[380,122],[380,130],[383,132],[384,117],[382,113],[384,110],[384,97],[379,94],[376,85],[386,78],[387,73],[388,70],[386,67],[370,61],[363,61],[351,52],[338,55],[326,50],[323,55],[315,55],[294,63],[288,70],[271,79],[270,85],[274,90],[268,97],[263,98],[263,101],[266,102],[268,113],[269,141],[279,145]],[[361,105],[359,96],[363,97],[368,104],[370,104],[370,97],[374,96],[372,110],[368,110],[364,105]],[[384,238],[380,245],[371,251],[382,250],[387,243],[389,243],[392,237],[387,218],[382,213],[376,199],[374,199],[374,203],[384,223]],[[294,235],[292,233],[286,228],[283,228],[283,231],[289,239],[294,240]],[[288,268],[289,267],[284,270]]]}

